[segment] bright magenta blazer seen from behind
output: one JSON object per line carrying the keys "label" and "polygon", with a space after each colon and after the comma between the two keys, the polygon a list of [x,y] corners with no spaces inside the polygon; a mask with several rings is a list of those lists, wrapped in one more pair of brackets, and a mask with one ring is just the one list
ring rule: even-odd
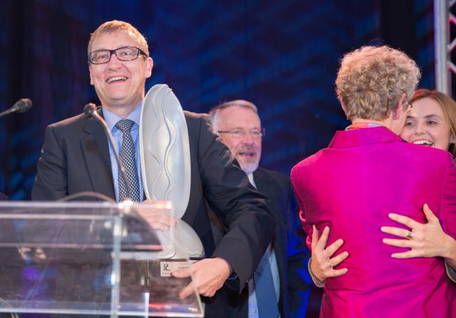
{"label": "bright magenta blazer seen from behind", "polygon": [[[380,226],[388,213],[425,223],[423,204],[456,237],[456,167],[448,152],[408,144],[385,127],[336,132],[326,149],[296,164],[291,181],[311,248],[312,225],[343,238],[350,256],[328,279],[321,317],[456,317],[456,285],[442,258],[398,260]],[[404,226],[402,226],[404,227]],[[395,237],[397,238],[397,237]],[[338,254],[336,253],[336,255]]]}

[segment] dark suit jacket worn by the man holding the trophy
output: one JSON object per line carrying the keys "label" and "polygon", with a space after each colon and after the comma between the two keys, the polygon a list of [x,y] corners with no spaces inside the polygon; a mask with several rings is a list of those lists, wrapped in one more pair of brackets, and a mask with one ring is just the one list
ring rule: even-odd
{"label": "dark suit jacket worn by the man holding the trophy", "polygon": [[[271,240],[274,218],[266,197],[249,186],[247,176],[230,160],[227,147],[212,133],[209,117],[185,112],[185,119],[192,185],[182,220],[199,235],[207,257],[227,260],[242,288]],[[115,198],[108,139],[101,124],[93,118],[78,115],[49,125],[37,169],[33,200],[56,200],[81,191]],[[217,247],[205,200],[229,228]],[[219,297],[206,300],[219,301]],[[227,311],[220,308],[206,306],[206,317],[224,317]]]}

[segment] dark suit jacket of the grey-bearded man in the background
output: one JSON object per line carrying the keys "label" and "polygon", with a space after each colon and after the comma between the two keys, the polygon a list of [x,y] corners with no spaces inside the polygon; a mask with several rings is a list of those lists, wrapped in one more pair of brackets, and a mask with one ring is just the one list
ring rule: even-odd
{"label": "dark suit jacket of the grey-bearded man in the background", "polygon": [[[272,248],[280,278],[279,311],[282,318],[306,314],[310,277],[307,271],[309,252],[289,176],[264,168],[254,171],[258,191],[269,197],[276,219]],[[248,288],[241,295],[227,291],[231,317],[248,317]]]}

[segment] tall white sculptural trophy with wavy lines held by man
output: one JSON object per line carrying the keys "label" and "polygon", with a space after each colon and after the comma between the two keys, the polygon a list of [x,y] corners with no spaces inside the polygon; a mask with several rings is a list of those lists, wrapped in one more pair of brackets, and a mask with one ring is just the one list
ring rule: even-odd
{"label": "tall white sculptural trophy with wavy lines held by man", "polygon": [[146,198],[171,201],[179,230],[158,231],[169,245],[160,258],[203,258],[204,248],[195,230],[182,216],[190,198],[190,144],[179,100],[165,84],[145,95],[140,117],[140,165]]}

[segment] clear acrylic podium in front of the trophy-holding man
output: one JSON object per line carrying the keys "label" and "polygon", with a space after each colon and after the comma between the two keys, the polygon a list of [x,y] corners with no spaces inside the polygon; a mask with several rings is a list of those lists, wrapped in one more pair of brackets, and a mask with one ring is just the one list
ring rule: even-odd
{"label": "clear acrylic podium in front of the trophy-holding man", "polygon": [[138,208],[172,213],[166,201],[0,203],[0,312],[203,317],[196,292],[179,297],[191,277],[170,275],[190,264],[175,253],[180,222],[152,230]]}

